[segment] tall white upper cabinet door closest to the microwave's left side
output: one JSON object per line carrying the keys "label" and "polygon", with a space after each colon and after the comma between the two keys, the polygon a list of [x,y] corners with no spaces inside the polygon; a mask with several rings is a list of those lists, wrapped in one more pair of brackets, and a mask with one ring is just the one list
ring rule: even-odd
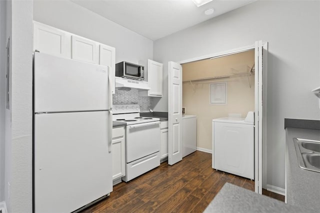
{"label": "tall white upper cabinet door closest to the microwave's left side", "polygon": [[99,64],[109,66],[111,70],[111,92],[115,93],[115,48],[105,44],[99,45]]}

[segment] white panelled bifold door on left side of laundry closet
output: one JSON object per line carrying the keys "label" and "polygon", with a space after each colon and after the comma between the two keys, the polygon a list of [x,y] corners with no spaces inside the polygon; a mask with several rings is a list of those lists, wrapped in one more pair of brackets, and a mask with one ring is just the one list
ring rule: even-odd
{"label": "white panelled bifold door on left side of laundry closet", "polygon": [[182,66],[168,62],[168,164],[182,159]]}

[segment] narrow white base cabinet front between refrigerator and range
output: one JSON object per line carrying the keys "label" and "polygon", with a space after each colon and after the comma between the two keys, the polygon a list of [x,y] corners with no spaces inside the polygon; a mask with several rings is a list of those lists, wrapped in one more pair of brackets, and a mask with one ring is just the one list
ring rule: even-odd
{"label": "narrow white base cabinet front between refrigerator and range", "polygon": [[112,179],[125,175],[124,127],[112,129]]}

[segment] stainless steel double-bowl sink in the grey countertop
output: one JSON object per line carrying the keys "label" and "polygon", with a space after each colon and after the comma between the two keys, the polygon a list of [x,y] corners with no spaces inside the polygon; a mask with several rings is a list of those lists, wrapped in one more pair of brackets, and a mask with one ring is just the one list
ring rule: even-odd
{"label": "stainless steel double-bowl sink in the grey countertop", "polygon": [[293,143],[299,166],[320,172],[320,141],[294,137]]}

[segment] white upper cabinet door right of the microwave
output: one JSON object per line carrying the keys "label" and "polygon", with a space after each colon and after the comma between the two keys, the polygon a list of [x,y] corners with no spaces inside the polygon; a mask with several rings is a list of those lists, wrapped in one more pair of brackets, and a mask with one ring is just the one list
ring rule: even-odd
{"label": "white upper cabinet door right of the microwave", "polygon": [[148,59],[148,96],[162,97],[162,63]]}

